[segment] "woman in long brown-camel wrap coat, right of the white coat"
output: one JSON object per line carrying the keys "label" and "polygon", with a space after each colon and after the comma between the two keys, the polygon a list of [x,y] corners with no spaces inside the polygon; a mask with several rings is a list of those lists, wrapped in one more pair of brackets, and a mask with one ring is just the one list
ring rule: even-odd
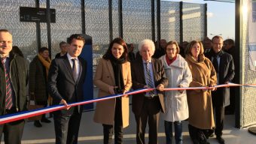
{"label": "woman in long brown-camel wrap coat, right of the white coat", "polygon": [[[193,40],[186,49],[186,61],[192,73],[190,87],[215,86],[217,77],[212,62],[203,55],[203,44]],[[215,127],[211,91],[215,88],[188,90],[188,130],[194,144],[208,143],[205,133]]]}

